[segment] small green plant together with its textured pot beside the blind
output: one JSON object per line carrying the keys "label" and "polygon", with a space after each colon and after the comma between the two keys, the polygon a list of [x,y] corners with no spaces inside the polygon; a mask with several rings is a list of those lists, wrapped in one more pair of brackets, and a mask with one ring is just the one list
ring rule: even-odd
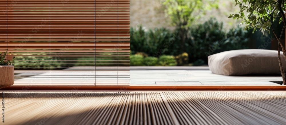
{"label": "small green plant together with its textured pot beside the blind", "polygon": [[10,53],[5,52],[2,55],[2,52],[0,52],[0,89],[14,84],[14,66],[12,66],[12,63],[15,57],[11,61],[5,61],[7,54]]}

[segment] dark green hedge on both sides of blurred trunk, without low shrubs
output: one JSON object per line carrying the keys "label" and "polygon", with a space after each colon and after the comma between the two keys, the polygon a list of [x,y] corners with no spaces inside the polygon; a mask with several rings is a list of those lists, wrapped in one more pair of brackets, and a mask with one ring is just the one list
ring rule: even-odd
{"label": "dark green hedge on both sides of blurred trunk, without low shrubs", "polygon": [[[189,29],[184,45],[188,54],[188,64],[196,61],[196,64],[201,64],[201,62],[206,64],[208,55],[227,50],[247,49],[249,34],[251,34],[240,27],[225,31],[223,23],[215,18],[202,24],[192,25]],[[139,26],[130,29],[130,36],[132,54],[144,52],[152,57],[182,54],[178,44],[180,43],[178,29],[174,31],[165,28],[146,30]],[[178,65],[186,65],[186,63]]]}

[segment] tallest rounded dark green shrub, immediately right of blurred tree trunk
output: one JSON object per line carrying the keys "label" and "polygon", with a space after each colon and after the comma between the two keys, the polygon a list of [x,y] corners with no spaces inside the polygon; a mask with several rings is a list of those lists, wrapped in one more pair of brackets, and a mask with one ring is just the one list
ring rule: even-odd
{"label": "tallest rounded dark green shrub, immediately right of blurred tree trunk", "polygon": [[211,18],[208,21],[190,28],[190,40],[187,53],[189,59],[194,62],[202,59],[207,62],[207,54],[212,55],[217,49],[221,49],[221,43],[225,40],[226,33],[223,23]]}

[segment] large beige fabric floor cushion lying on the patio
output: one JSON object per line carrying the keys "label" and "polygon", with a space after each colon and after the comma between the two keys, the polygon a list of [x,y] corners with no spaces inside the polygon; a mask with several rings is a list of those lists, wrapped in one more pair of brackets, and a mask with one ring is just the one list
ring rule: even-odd
{"label": "large beige fabric floor cushion lying on the patio", "polygon": [[[283,68],[286,61],[281,51]],[[241,49],[208,56],[208,66],[215,74],[239,76],[247,74],[281,74],[275,50]]]}

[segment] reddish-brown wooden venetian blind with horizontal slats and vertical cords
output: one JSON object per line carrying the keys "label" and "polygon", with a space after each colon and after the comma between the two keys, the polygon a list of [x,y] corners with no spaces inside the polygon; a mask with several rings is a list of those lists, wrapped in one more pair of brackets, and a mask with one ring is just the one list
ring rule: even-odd
{"label": "reddish-brown wooden venetian blind with horizontal slats and vertical cords", "polygon": [[129,0],[0,0],[15,85],[129,85]]}

